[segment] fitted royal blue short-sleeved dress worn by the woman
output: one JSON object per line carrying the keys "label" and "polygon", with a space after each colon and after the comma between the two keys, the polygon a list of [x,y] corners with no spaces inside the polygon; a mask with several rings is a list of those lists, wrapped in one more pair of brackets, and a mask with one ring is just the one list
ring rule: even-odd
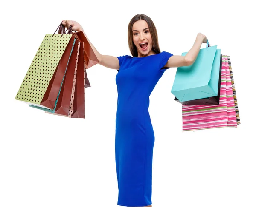
{"label": "fitted royal blue short-sleeved dress worn by the woman", "polygon": [[[148,113],[149,96],[173,54],[117,57],[115,158],[120,206],[151,205],[154,130]],[[163,68],[163,69],[162,69]]]}

